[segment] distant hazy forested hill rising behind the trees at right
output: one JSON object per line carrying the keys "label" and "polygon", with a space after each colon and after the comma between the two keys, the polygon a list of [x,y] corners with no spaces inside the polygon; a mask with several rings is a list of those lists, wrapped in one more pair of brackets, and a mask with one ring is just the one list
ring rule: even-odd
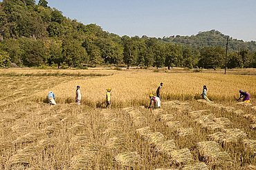
{"label": "distant hazy forested hill rising behind the trees at right", "polygon": [[228,48],[230,52],[239,51],[241,48],[247,48],[250,51],[256,51],[256,42],[233,39],[227,35],[223,35],[218,30],[210,30],[205,32],[199,32],[197,35],[192,36],[170,36],[159,39],[163,42],[173,42],[175,44],[183,44],[192,46],[195,48],[203,48],[205,46],[221,46],[226,48],[226,39],[228,37]]}

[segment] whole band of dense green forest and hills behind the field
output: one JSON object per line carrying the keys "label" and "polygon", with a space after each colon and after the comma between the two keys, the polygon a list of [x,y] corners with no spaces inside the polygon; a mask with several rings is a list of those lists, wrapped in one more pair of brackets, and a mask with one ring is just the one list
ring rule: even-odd
{"label": "whole band of dense green forest and hills behind the field", "polygon": [[[129,37],[84,25],[46,0],[0,2],[0,67],[58,68],[122,64],[168,68],[223,68],[226,35],[217,30],[192,36]],[[256,42],[228,37],[228,68],[256,67]]]}

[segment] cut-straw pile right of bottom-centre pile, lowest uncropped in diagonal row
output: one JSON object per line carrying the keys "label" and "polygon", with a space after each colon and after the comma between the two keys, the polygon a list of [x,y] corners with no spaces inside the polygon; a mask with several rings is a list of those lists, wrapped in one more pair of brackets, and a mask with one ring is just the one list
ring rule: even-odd
{"label": "cut-straw pile right of bottom-centre pile, lowest uncropped in diagonal row", "polygon": [[171,151],[170,156],[176,164],[190,164],[193,162],[192,154],[188,148]]}

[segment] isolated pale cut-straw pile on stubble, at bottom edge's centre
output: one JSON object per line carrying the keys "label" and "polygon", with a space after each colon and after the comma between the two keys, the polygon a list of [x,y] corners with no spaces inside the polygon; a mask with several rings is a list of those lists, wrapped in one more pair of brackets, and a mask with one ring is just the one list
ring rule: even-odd
{"label": "isolated pale cut-straw pile on stubble, at bottom edge's centre", "polygon": [[137,152],[127,152],[127,153],[119,153],[115,157],[116,162],[121,164],[122,166],[134,167],[136,164],[140,164],[142,158],[138,155]]}

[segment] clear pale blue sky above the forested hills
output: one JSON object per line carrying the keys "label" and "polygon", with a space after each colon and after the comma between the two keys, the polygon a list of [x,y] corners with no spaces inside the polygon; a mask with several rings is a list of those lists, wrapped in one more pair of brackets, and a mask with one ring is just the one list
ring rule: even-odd
{"label": "clear pale blue sky above the forested hills", "polygon": [[48,0],[48,6],[120,36],[163,38],[219,30],[256,41],[255,0]]}

